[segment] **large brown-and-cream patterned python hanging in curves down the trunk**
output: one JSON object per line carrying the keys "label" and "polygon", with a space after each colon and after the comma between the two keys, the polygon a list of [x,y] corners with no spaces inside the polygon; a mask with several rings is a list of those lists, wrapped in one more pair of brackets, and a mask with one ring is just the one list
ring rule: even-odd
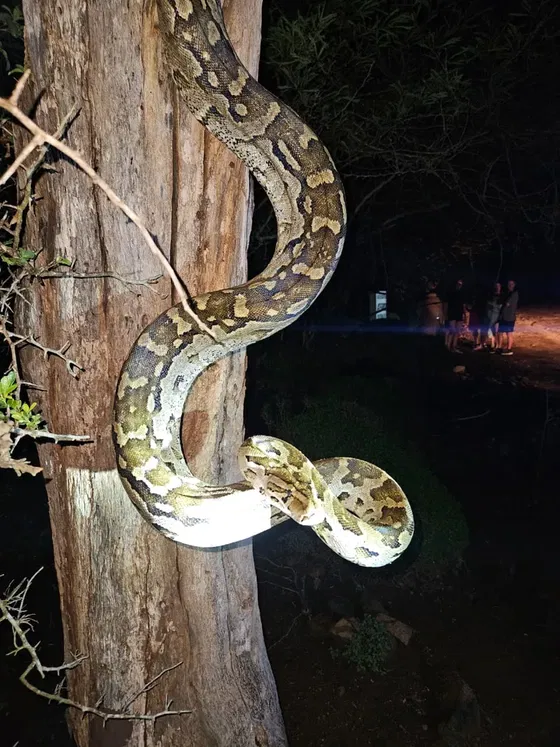
{"label": "large brown-and-cream patterned python hanging in curves down the trunk", "polygon": [[255,436],[239,451],[246,482],[216,486],[183,456],[181,418],[195,379],[219,358],[294,322],[330,280],[344,243],[342,184],[317,136],[260,86],[231,47],[219,0],[158,0],[167,64],[194,116],[265,189],[276,215],[272,260],[244,285],[192,299],[147,327],[115,397],[118,470],[140,513],[175,542],[218,547],[291,517],[353,563],[382,566],[408,546],[409,503],[383,470],[351,458],[311,463],[295,447]]}

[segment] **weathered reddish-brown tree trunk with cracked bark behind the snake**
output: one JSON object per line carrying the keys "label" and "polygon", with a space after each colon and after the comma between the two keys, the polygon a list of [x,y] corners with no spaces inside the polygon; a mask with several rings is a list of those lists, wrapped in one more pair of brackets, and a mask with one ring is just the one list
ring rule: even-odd
{"label": "weathered reddish-brown tree trunk with cracked bark behind the snake", "polygon": [[[81,106],[69,143],[142,217],[188,289],[242,282],[250,187],[244,167],[178,106],[162,66],[157,13],[141,0],[24,0],[28,103],[54,132]],[[261,0],[226,2],[240,56],[255,72]],[[65,255],[79,272],[136,279],[160,272],[134,226],[75,167],[52,158],[41,177],[27,244],[45,261]],[[183,662],[135,702],[157,712],[166,697],[188,716],[155,727],[70,712],[80,747],[276,747],[286,744],[257,606],[251,547],[197,551],[174,545],[136,513],[114,469],[111,406],[120,366],[137,334],[172,303],[113,279],[46,281],[19,314],[20,331],[49,346],[72,342],[85,373],[31,351],[26,378],[46,387],[43,412],[57,432],[87,433],[91,446],[41,447],[48,480],[65,647],[87,652],[71,697],[119,709],[164,668]],[[185,428],[196,471],[237,477],[244,356],[198,382]]]}

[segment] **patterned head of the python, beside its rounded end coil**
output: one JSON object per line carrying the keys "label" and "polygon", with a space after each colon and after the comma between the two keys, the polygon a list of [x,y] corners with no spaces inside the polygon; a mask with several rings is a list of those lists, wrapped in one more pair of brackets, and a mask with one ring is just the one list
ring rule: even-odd
{"label": "patterned head of the python, beside its rounded end coil", "polygon": [[323,480],[307,457],[279,438],[252,436],[241,444],[239,467],[247,482],[298,524],[325,519]]}

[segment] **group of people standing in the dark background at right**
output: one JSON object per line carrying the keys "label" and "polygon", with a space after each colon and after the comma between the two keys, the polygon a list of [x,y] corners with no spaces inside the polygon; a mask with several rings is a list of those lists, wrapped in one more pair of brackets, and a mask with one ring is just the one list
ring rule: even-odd
{"label": "group of people standing in the dark background at right", "polygon": [[461,353],[459,338],[465,330],[474,337],[475,350],[513,355],[513,334],[519,305],[515,280],[506,288],[495,283],[490,292],[469,299],[458,279],[453,290],[442,300],[435,281],[430,281],[418,305],[420,328],[424,334],[437,335],[445,331],[445,346],[452,353]]}

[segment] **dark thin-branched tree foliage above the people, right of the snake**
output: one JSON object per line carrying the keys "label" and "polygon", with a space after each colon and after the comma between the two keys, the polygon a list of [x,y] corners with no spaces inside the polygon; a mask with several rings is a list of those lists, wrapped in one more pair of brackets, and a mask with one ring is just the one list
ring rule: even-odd
{"label": "dark thin-branched tree foliage above the people, right of the snake", "polygon": [[554,241],[555,0],[270,7],[265,83],[318,131],[348,193],[358,251],[351,267],[343,257],[339,296],[373,273],[387,287],[457,255],[472,263],[491,242]]}

